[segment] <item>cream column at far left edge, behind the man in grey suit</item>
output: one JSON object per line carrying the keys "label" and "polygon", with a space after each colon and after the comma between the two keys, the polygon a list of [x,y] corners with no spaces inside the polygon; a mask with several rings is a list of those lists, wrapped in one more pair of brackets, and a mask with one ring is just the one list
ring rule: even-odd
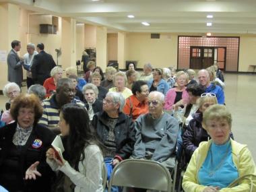
{"label": "cream column at far left edge, behind the man in grey suit", "polygon": [[[0,51],[6,53],[7,59],[11,42],[20,40],[20,6],[10,3],[0,4],[0,34]],[[22,42],[22,49],[26,49],[26,42]],[[0,70],[0,90],[2,90],[7,84],[7,61],[0,61]]]}

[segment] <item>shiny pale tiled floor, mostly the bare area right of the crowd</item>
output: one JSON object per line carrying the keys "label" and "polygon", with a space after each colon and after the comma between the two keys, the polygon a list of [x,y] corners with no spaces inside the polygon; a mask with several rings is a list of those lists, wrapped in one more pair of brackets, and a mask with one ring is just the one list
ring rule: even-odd
{"label": "shiny pale tiled floor, mostly the bare area right of the crowd", "polygon": [[[256,75],[225,74],[226,106],[232,112],[234,139],[249,146],[256,160]],[[22,88],[26,92],[26,87]],[[0,108],[7,99],[0,96]]]}

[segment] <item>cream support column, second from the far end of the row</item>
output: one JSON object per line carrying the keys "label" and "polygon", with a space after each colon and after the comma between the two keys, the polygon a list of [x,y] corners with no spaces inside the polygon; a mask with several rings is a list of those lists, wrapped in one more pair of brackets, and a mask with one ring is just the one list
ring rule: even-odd
{"label": "cream support column, second from the far end of the row", "polygon": [[106,27],[96,27],[96,63],[102,68],[102,71],[106,70]]}

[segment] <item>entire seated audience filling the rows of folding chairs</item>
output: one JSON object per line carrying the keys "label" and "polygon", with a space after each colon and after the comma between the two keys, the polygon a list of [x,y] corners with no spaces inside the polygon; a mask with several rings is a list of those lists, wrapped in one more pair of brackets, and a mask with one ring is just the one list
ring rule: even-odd
{"label": "entire seated audience filling the rows of folding chairs", "polygon": [[[150,63],[141,74],[133,63],[126,73],[106,67],[104,75],[94,61],[87,68],[81,78],[74,67],[65,69],[66,77],[53,67],[43,86],[34,84],[27,94],[13,82],[5,85],[0,187],[99,192],[106,158],[112,166],[136,158],[170,172],[185,159],[186,192],[256,190],[251,152],[231,132],[218,65],[199,70],[198,80],[193,69]],[[59,138],[61,156],[51,146]]]}

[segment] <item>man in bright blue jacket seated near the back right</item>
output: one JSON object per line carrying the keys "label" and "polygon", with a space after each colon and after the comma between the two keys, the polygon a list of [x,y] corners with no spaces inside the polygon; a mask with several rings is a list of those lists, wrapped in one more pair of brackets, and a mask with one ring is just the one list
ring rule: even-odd
{"label": "man in bright blue jacket seated near the back right", "polygon": [[225,96],[222,88],[210,82],[210,74],[206,69],[198,71],[197,78],[199,80],[199,85],[205,88],[206,93],[214,93],[218,100],[218,104],[224,104]]}

